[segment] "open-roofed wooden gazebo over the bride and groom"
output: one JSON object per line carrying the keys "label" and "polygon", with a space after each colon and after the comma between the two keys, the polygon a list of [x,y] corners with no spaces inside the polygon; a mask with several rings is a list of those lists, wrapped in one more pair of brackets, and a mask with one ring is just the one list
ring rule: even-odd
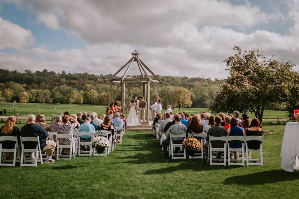
{"label": "open-roofed wooden gazebo over the bride and groom", "polygon": [[[132,58],[126,62],[125,65],[123,65],[110,79],[110,103],[112,102],[112,84],[121,84],[121,112],[124,113],[125,111],[125,89],[126,89],[126,83],[134,83],[134,84],[143,84],[143,96],[147,102],[146,107],[146,122],[150,121],[150,84],[154,83],[157,84],[157,100],[159,99],[159,83],[161,80],[158,76],[156,76],[149,67],[145,65],[145,63],[139,58],[140,53],[138,51],[134,51],[131,53]],[[127,76],[127,73],[129,72],[133,62],[137,63],[137,66],[139,68],[141,77],[140,78],[134,78]],[[117,77],[117,75],[124,69],[125,73],[121,78]],[[152,78],[150,75],[152,75]]]}

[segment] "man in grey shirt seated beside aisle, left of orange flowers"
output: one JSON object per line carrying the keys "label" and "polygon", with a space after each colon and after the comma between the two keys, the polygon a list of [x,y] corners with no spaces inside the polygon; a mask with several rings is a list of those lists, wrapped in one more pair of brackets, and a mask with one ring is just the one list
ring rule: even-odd
{"label": "man in grey shirt seated beside aisle, left of orange flowers", "polygon": [[[182,118],[181,118],[180,114],[174,115],[175,124],[168,128],[168,130],[166,132],[167,139],[162,141],[163,156],[165,158],[168,158],[167,148],[168,148],[168,145],[170,144],[170,134],[182,134],[182,133],[186,133],[186,131],[187,131],[187,127],[181,123],[181,119]],[[184,138],[183,137],[174,137],[172,140],[173,140],[173,144],[181,144],[183,142]]]}

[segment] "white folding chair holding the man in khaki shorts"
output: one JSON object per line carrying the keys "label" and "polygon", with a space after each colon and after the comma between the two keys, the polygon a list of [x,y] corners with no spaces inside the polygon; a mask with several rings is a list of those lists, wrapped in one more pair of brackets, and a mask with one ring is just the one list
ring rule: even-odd
{"label": "white folding chair holding the man in khaki shorts", "polygon": [[[37,166],[37,161],[38,161],[38,157],[40,157],[40,163],[43,164],[43,158],[41,156],[41,149],[40,149],[40,140],[38,137],[21,137],[20,136],[20,140],[21,140],[21,167],[22,166]],[[28,149],[25,148],[24,146],[24,142],[36,142],[36,148],[35,149]],[[30,160],[26,159],[26,153],[35,153],[35,161],[34,160]],[[23,163],[24,162],[24,163]],[[27,162],[34,162],[34,164],[26,164]]]}

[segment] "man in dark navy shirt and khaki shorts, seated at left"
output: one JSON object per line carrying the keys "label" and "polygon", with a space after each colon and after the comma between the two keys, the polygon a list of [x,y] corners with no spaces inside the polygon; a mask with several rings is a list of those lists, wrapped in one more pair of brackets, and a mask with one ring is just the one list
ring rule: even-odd
{"label": "man in dark navy shirt and khaki shorts, seated at left", "polygon": [[[29,115],[27,124],[21,128],[22,137],[37,137],[40,140],[40,148],[42,151],[47,153],[46,163],[54,163],[52,154],[55,150],[56,143],[53,140],[47,140],[49,137],[48,132],[40,125],[35,124],[35,115]],[[24,142],[25,148],[35,149],[36,142]],[[30,154],[31,160],[35,160],[34,153]]]}

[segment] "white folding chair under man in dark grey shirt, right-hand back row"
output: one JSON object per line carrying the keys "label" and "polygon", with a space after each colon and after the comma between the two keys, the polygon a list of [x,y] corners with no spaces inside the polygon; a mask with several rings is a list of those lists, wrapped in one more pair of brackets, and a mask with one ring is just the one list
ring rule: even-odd
{"label": "white folding chair under man in dark grey shirt, right-hand back row", "polygon": [[[224,147],[223,148],[212,148],[212,141],[223,141],[223,142],[227,142],[226,136],[223,137],[215,137],[215,136],[210,136],[209,137],[209,148],[208,148],[208,162],[210,161],[210,165],[226,165],[226,143],[224,143]],[[224,158],[213,158],[212,157],[212,152],[213,151],[220,151],[224,153]],[[223,161],[222,162],[213,162],[214,161]]]}

